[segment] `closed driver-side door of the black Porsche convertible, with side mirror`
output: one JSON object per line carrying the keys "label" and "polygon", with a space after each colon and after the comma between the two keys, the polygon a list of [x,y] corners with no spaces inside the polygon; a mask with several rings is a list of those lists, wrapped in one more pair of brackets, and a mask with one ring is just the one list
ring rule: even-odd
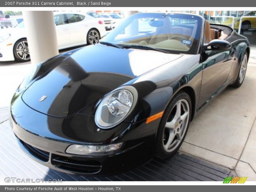
{"label": "closed driver-side door of the black Porsche convertible, with side mirror", "polygon": [[226,83],[235,58],[235,48],[226,51],[205,50],[201,53],[203,67],[198,107],[210,100]]}

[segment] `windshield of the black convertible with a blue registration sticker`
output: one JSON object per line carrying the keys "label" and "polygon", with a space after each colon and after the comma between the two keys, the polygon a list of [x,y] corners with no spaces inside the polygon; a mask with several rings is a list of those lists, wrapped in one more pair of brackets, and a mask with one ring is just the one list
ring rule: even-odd
{"label": "windshield of the black convertible with a blue registration sticker", "polygon": [[125,19],[102,39],[117,45],[143,45],[169,53],[195,54],[202,19],[189,14],[139,13]]}

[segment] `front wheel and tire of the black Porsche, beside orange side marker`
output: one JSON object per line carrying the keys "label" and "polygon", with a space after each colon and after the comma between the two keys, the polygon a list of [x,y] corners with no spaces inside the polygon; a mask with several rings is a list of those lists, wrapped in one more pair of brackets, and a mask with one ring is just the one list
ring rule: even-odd
{"label": "front wheel and tire of the black Porsche, beside orange side marker", "polygon": [[[179,105],[181,108],[180,116],[177,115],[179,114],[177,113],[177,106]],[[187,113],[186,117],[185,113]],[[188,132],[190,118],[191,99],[186,92],[180,91],[172,98],[166,107],[159,124],[156,135],[155,156],[165,159],[178,151]]]}

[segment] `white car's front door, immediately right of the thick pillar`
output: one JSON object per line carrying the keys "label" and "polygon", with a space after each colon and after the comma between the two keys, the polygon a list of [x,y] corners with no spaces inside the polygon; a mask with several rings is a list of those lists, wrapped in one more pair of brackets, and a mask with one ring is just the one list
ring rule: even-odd
{"label": "white car's front door, immediately right of the thick pillar", "polygon": [[65,14],[54,15],[58,46],[65,47],[70,44],[69,28]]}

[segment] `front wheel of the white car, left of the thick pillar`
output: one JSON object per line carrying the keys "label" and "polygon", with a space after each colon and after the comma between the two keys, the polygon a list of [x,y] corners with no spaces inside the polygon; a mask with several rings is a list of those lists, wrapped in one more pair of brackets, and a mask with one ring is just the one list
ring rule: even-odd
{"label": "front wheel of the white car, left of the thick pillar", "polygon": [[18,40],[13,46],[14,59],[19,62],[30,61],[28,41],[26,38]]}

